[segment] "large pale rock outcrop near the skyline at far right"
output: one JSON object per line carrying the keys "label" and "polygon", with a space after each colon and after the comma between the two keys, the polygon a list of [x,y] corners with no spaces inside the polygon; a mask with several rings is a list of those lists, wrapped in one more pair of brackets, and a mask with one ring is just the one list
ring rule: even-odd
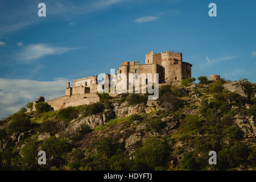
{"label": "large pale rock outcrop near the skyline at far right", "polygon": [[246,81],[233,81],[233,82],[228,82],[226,84],[223,84],[225,89],[228,89],[230,92],[236,92],[240,94],[242,97],[247,98],[248,94],[245,91],[245,88],[243,88],[242,83]]}

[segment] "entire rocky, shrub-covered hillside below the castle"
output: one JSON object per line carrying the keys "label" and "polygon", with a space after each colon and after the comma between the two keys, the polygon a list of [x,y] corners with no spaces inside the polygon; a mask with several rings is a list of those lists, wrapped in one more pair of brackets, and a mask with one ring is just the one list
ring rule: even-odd
{"label": "entire rocky, shrub-covered hillside below the castle", "polygon": [[255,117],[256,86],[246,80],[162,85],[154,101],[100,94],[97,104],[59,111],[42,102],[0,122],[0,168],[255,170]]}

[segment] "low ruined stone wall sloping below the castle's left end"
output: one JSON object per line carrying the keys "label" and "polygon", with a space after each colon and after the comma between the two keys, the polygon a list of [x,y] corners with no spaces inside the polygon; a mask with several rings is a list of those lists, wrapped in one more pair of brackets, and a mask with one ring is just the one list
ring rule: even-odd
{"label": "low ruined stone wall sloping below the castle's left end", "polygon": [[96,93],[76,94],[73,96],[61,96],[54,100],[47,101],[54,110],[60,110],[69,106],[88,105],[100,102],[100,97]]}

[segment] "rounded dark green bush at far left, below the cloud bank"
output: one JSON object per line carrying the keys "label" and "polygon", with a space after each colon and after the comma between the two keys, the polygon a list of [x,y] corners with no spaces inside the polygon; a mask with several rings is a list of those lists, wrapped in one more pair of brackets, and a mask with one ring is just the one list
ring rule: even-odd
{"label": "rounded dark green bush at far left, below the cloud bank", "polygon": [[7,126],[7,131],[13,133],[14,131],[24,132],[32,129],[30,118],[24,113],[15,113],[11,117],[11,122]]}

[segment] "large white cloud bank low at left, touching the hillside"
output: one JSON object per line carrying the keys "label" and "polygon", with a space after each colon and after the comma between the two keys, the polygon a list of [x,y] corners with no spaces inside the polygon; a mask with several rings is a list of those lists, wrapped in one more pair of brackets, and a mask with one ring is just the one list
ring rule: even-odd
{"label": "large white cloud bank low at left, touching the hillside", "polygon": [[53,81],[0,78],[0,119],[13,114],[27,102],[43,96],[46,101],[64,96],[69,80],[56,78]]}

